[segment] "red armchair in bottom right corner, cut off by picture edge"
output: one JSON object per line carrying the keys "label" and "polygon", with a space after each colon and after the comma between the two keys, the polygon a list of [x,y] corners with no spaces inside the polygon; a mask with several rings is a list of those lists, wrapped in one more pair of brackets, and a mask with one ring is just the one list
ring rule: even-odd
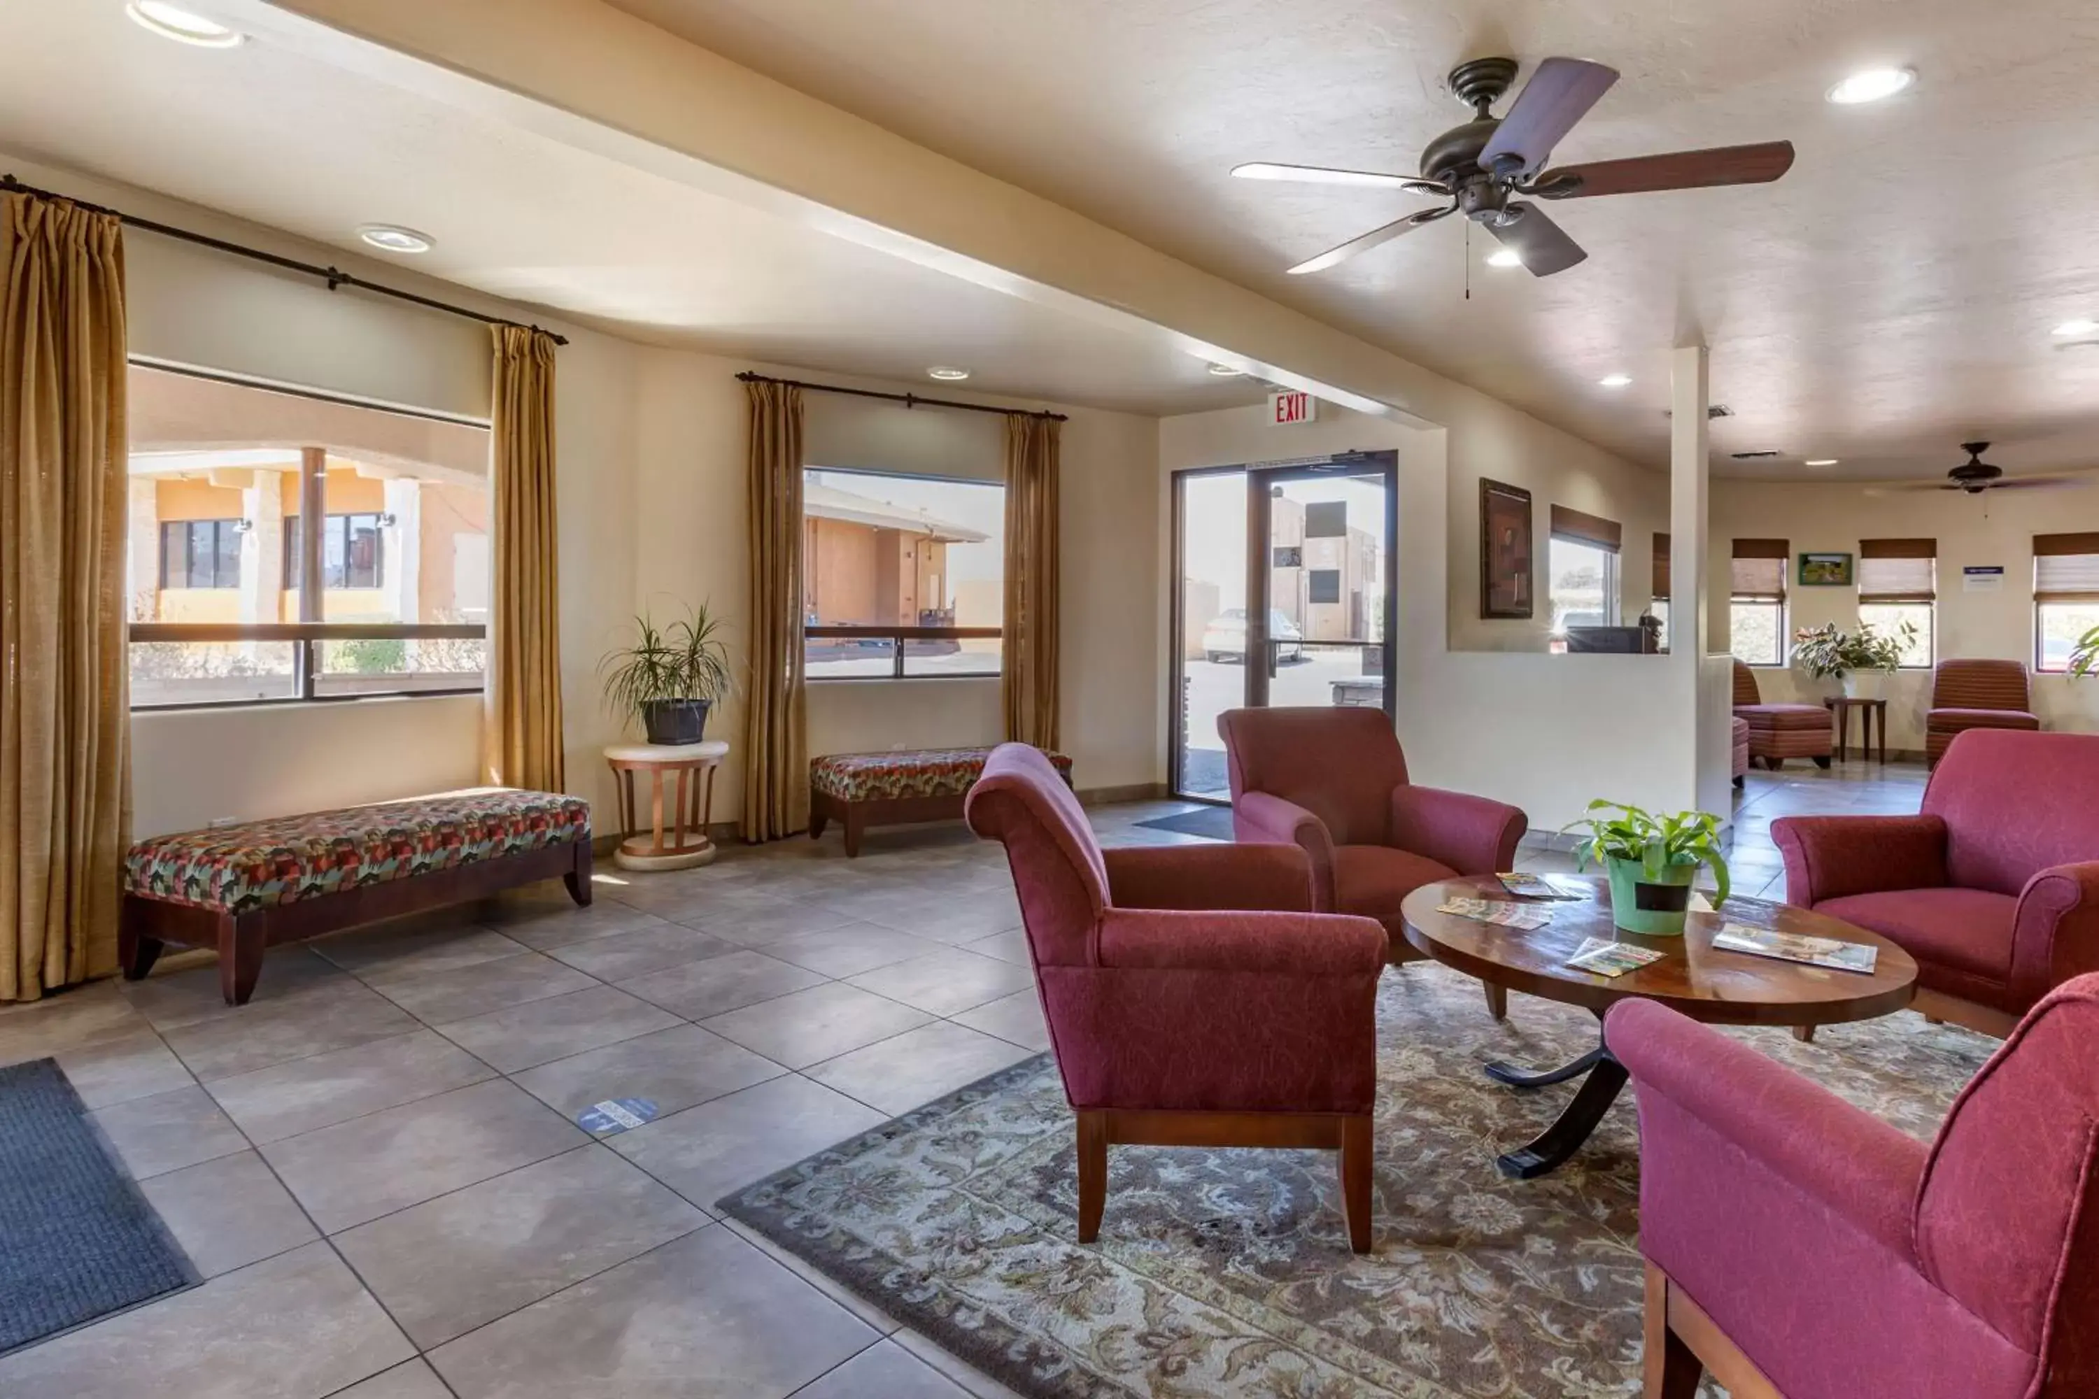
{"label": "red armchair in bottom right corner, cut off by picture edge", "polygon": [[1639,1095],[1646,1399],[2099,1395],[2099,977],[2019,1024],[1929,1147],[1652,1000]]}

